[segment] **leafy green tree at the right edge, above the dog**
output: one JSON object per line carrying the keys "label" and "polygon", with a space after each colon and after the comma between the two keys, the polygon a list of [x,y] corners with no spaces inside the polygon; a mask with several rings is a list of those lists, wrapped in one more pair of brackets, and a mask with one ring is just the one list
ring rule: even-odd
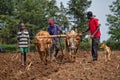
{"label": "leafy green tree at the right edge, above the dog", "polygon": [[120,1],[116,0],[109,6],[111,14],[107,15],[107,25],[111,39],[120,42]]}

